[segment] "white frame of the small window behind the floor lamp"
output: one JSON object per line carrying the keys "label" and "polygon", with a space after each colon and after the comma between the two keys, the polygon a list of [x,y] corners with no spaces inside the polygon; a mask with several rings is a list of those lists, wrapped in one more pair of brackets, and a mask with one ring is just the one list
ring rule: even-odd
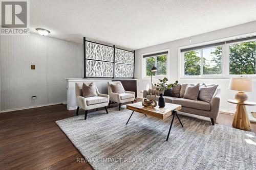
{"label": "white frame of the small window behind the floor lamp", "polygon": [[[143,53],[141,54],[141,78],[142,80],[150,80],[151,76],[146,76],[146,58],[143,58],[143,56],[145,55],[153,55],[153,54],[157,54],[157,53],[162,53],[162,52],[167,52],[166,55],[166,75],[157,75],[157,76],[152,76],[153,79],[161,79],[161,78],[168,78],[169,77],[169,49],[165,49],[165,50],[160,50],[160,51],[154,51],[154,52],[150,52],[150,53]],[[152,57],[157,57],[156,56],[152,56]],[[157,60],[155,61],[155,63],[157,63]]]}

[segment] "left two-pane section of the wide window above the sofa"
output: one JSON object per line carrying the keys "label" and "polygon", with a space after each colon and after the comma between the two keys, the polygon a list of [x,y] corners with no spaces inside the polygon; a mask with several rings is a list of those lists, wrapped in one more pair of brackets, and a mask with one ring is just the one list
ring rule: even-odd
{"label": "left two-pane section of the wide window above the sofa", "polygon": [[203,48],[184,53],[184,75],[221,75],[222,46]]}

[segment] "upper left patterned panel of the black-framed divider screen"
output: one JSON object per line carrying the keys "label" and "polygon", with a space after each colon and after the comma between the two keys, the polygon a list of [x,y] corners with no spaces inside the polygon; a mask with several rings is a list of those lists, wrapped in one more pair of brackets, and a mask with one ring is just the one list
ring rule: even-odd
{"label": "upper left patterned panel of the black-framed divider screen", "polygon": [[114,48],[86,41],[86,58],[114,62]]}

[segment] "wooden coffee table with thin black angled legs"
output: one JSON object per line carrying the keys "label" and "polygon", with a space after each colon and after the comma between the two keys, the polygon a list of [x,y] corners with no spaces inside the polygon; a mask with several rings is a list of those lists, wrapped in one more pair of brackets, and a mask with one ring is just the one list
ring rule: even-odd
{"label": "wooden coffee table with thin black angled legs", "polygon": [[148,115],[148,116],[157,117],[157,118],[160,118],[160,119],[163,119],[163,120],[166,119],[168,116],[173,114],[172,123],[170,123],[170,128],[169,128],[169,132],[168,132],[166,141],[168,141],[169,134],[170,134],[170,129],[172,129],[175,115],[177,116],[181,126],[183,127],[183,125],[180,121],[180,118],[177,114],[177,111],[181,109],[181,105],[165,103],[165,107],[163,107],[163,108],[160,108],[159,106],[156,106],[156,107],[152,108],[152,107],[144,107],[144,106],[142,106],[141,102],[138,102],[138,103],[126,105],[126,109],[129,109],[129,110],[133,111],[131,116],[129,117],[126,125],[128,124],[128,122],[129,122],[129,120],[132,117],[134,112],[145,114],[145,116]]}

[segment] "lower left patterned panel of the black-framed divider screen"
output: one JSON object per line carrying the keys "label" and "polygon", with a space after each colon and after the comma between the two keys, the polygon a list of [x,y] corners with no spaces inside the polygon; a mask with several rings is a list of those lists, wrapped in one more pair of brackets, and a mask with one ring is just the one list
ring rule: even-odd
{"label": "lower left patterned panel of the black-framed divider screen", "polygon": [[86,61],[86,77],[113,77],[114,63],[103,61]]}

